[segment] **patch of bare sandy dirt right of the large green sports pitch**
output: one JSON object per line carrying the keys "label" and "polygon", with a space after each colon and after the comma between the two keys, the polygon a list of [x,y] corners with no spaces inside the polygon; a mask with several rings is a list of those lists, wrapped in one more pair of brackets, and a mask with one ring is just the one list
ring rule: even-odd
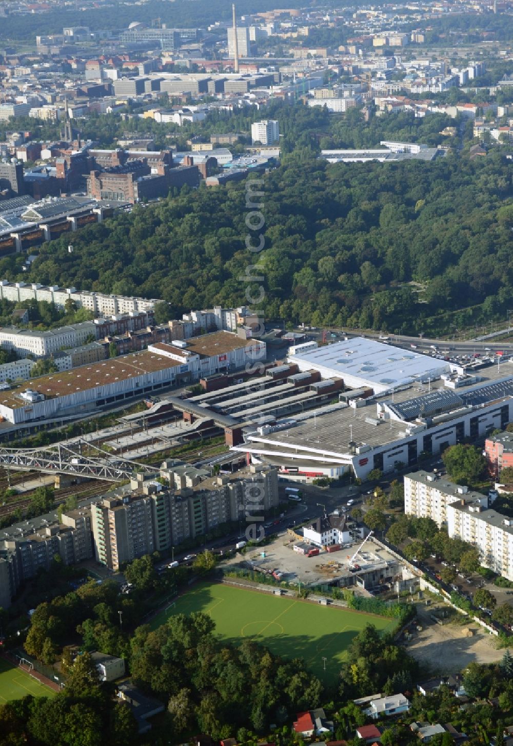
{"label": "patch of bare sandy dirt right of the large green sports pitch", "polygon": [[426,607],[417,607],[422,632],[415,631],[412,640],[406,642],[406,650],[419,662],[427,663],[433,671],[441,674],[456,674],[472,661],[493,663],[500,660],[503,650],[495,648],[495,637],[479,624],[470,621],[468,627],[473,637],[463,636],[465,626],[435,624],[427,615]]}

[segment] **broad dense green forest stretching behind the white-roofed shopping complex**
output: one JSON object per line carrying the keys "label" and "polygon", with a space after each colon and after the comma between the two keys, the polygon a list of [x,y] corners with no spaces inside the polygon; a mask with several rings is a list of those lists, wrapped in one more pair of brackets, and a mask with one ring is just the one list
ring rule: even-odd
{"label": "broad dense green forest stretching behind the white-roofed shopping complex", "polygon": [[[268,318],[314,325],[443,332],[506,314],[513,293],[512,173],[500,151],[468,158],[468,143],[434,162],[329,165],[319,146],[382,139],[435,145],[452,121],[401,114],[358,122],[321,108],[281,107],[282,165],[265,176],[265,248],[245,248],[245,184],[183,189],[42,246],[0,277],[163,298],[169,315],[245,303],[258,261]],[[241,122],[243,124],[243,122]],[[258,241],[257,241],[258,242]]]}

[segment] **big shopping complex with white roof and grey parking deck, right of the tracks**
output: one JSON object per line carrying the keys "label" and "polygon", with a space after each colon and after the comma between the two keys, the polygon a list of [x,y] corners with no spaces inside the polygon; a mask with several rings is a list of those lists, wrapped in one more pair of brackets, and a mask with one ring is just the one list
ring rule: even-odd
{"label": "big shopping complex with white roof and grey parking deck, right of the tracks", "polygon": [[420,454],[438,454],[513,421],[511,362],[500,370],[490,363],[470,377],[442,360],[377,342],[373,348],[363,354],[359,340],[351,339],[290,355],[301,371],[337,377],[356,390],[264,429],[248,425],[245,442],[234,450],[305,479],[344,471],[365,478],[374,468],[413,465]]}

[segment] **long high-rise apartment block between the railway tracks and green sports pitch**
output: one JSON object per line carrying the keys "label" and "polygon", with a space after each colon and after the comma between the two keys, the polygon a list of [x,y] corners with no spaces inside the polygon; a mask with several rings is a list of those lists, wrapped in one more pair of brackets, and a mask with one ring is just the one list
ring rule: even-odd
{"label": "long high-rise apartment block between the railway tracks and green sports pitch", "polygon": [[[172,483],[171,472],[162,473]],[[91,506],[96,560],[114,570],[221,524],[263,519],[279,502],[277,470],[255,466],[243,478],[217,477],[180,492],[148,480],[133,480],[132,488],[130,495],[108,496]]]}

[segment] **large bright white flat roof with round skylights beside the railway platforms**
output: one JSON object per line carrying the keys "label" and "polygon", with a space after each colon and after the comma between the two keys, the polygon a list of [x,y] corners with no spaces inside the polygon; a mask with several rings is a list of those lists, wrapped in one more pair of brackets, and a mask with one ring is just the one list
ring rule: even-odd
{"label": "large bright white flat roof with round skylights beside the railway platforms", "polygon": [[301,371],[318,370],[325,378],[343,378],[350,387],[368,386],[374,392],[414,381],[434,380],[449,371],[448,363],[373,339],[355,337],[289,355]]}

